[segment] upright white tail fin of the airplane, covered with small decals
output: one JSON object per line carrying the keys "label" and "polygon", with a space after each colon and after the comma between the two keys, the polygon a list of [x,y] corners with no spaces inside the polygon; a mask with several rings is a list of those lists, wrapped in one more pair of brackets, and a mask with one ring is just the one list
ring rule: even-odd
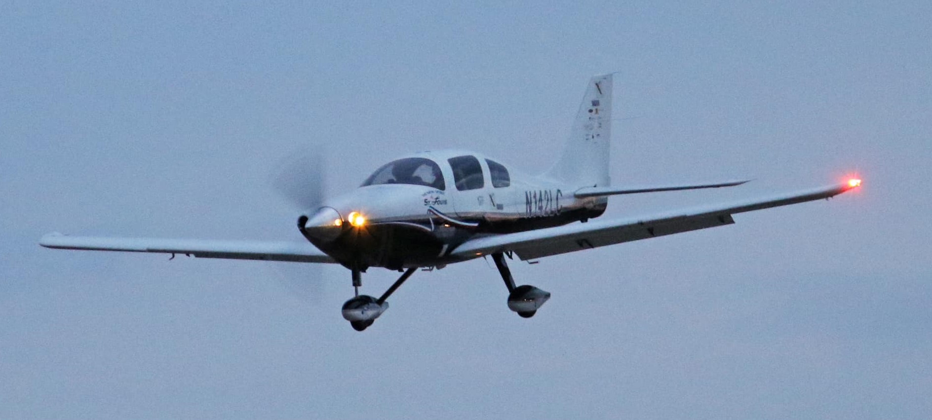
{"label": "upright white tail fin of the airplane, covered with small decals", "polygon": [[589,80],[563,154],[544,176],[579,186],[609,186],[611,76]]}

